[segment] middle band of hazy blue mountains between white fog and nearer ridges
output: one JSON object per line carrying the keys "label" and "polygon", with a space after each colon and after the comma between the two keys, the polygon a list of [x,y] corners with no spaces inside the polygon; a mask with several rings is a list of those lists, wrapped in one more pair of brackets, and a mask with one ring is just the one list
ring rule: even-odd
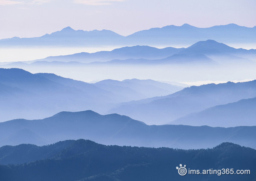
{"label": "middle band of hazy blue mountains between white fog and nearer ridges", "polygon": [[130,116],[146,124],[256,126],[255,82],[183,89],[153,80],[108,79],[89,84],[55,74],[0,69],[1,121],[42,119],[63,110],[94,110]]}

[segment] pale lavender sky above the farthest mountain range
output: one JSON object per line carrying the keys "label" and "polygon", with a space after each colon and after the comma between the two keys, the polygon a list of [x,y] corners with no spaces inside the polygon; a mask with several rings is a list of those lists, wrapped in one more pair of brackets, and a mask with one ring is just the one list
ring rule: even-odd
{"label": "pale lavender sky above the farthest mountain range", "polygon": [[256,0],[0,0],[0,39],[38,37],[70,26],[121,35],[183,25],[256,25]]}

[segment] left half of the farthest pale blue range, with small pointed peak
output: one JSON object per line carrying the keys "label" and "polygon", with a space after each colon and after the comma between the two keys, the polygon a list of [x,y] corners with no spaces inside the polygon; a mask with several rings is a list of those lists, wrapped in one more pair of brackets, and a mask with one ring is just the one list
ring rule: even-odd
{"label": "left half of the farthest pale blue range, with small pointed peak", "polygon": [[[19,38],[13,37],[0,40],[1,46],[84,46],[84,45],[112,45],[122,42],[123,36],[109,30],[83,31],[70,27],[61,31],[45,34],[42,37]],[[115,43],[116,42],[116,43]]]}

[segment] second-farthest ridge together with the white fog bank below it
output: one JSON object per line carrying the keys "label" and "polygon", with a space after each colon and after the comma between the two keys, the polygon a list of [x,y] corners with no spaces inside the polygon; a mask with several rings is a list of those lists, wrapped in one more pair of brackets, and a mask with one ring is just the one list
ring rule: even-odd
{"label": "second-farthest ridge together with the white fog bank below it", "polygon": [[133,78],[169,82],[248,80],[255,79],[256,50],[206,40],[185,49],[133,46],[5,63],[0,67],[54,73],[84,82]]}

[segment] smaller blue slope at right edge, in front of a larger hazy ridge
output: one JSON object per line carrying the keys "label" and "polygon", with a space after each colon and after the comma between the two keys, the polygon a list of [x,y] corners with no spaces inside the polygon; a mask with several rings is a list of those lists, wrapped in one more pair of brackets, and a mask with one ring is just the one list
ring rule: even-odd
{"label": "smaller blue slope at right edge, in front of a larger hazy ridge", "polygon": [[210,107],[199,113],[192,113],[183,118],[179,118],[170,124],[185,124],[193,126],[247,126],[256,125],[256,98],[242,99],[238,102],[226,105]]}

